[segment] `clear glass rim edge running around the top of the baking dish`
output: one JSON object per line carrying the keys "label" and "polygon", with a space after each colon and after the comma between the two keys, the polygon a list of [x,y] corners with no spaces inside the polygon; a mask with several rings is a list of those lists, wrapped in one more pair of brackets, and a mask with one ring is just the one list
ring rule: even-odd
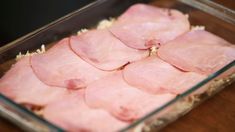
{"label": "clear glass rim edge running around the top of the baking dish", "polygon": [[[32,38],[34,36],[36,36],[39,32],[47,30],[48,28],[50,28],[52,25],[63,22],[64,20],[73,17],[75,14],[79,13],[79,12],[83,12],[86,11],[86,9],[88,8],[92,8],[94,6],[97,6],[99,4],[105,3],[108,0],[97,0],[94,1],[90,4],[88,4],[87,6],[84,6],[83,8],[80,8],[72,13],[69,13],[68,15],[59,18],[58,20],[55,20],[23,37],[20,37],[19,39],[8,43],[5,46],[0,47],[0,54],[4,53],[5,51],[11,49],[12,47],[15,47],[18,45],[18,42],[20,41],[24,41],[28,38]],[[204,11],[208,14],[211,14],[213,16],[216,16],[230,24],[234,24],[235,25],[235,11],[226,8],[224,6],[221,6],[215,2],[212,2],[210,0],[199,0],[199,1],[194,1],[194,0],[177,0],[179,2],[182,2],[183,4],[187,4],[191,7],[197,8],[201,11]],[[207,8],[207,10],[205,9]],[[209,9],[209,11],[208,11]],[[223,11],[223,12],[221,12]],[[219,13],[218,13],[219,12]],[[215,14],[217,13],[217,14]],[[186,97],[187,95],[191,94],[192,92],[200,89],[202,86],[204,86],[205,84],[207,84],[208,82],[210,82],[211,80],[213,80],[214,78],[218,77],[219,75],[221,75],[222,73],[228,71],[229,69],[231,69],[232,67],[235,66],[235,60],[232,61],[231,63],[227,64],[226,66],[224,66],[223,68],[221,68],[220,70],[218,70],[217,72],[209,75],[206,79],[204,79],[203,81],[199,82],[198,84],[194,85],[193,87],[191,87],[190,89],[188,89],[187,91],[185,91],[184,93],[180,94],[179,96],[177,96],[176,98],[170,100],[168,103],[164,104],[163,106],[161,106],[160,108],[157,108],[155,110],[153,110],[152,112],[150,112],[149,114],[147,114],[146,116],[140,118],[139,120],[135,121],[134,123],[130,124],[129,126],[127,126],[126,128],[122,129],[121,131],[127,131],[135,126],[137,126],[138,124],[142,123],[144,120],[150,118],[151,116],[161,112],[162,110],[164,110],[165,108],[167,108],[168,106],[170,106],[171,104],[174,104],[175,102],[177,102],[178,100]],[[31,116],[33,119],[37,120],[38,122],[42,123],[43,125],[47,126],[50,129],[56,130],[56,131],[64,131],[63,129],[61,129],[60,127],[54,125],[51,122],[46,121],[45,119],[37,116],[36,114],[34,114],[32,111],[27,110],[26,108],[24,108],[23,106],[16,104],[14,101],[12,101],[11,99],[5,97],[4,95],[2,95],[0,93],[0,101],[4,102],[5,104],[8,104],[9,106],[13,106],[17,111],[26,113],[27,115]]]}

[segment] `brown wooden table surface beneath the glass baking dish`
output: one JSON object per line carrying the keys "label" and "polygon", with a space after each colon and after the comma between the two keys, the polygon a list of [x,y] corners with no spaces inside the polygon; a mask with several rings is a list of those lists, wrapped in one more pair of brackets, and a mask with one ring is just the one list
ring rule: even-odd
{"label": "brown wooden table surface beneath the glass baking dish", "polygon": [[[235,9],[234,0],[215,0]],[[0,118],[0,132],[20,132]],[[235,132],[235,83],[165,127],[164,132]]]}

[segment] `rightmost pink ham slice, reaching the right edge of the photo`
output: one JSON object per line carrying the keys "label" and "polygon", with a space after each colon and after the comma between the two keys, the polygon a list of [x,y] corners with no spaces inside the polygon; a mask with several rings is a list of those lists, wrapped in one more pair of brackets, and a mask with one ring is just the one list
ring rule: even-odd
{"label": "rightmost pink ham slice, reaching the right edge of the photo", "polygon": [[207,31],[195,30],[160,47],[158,55],[184,71],[209,75],[235,60],[235,46]]}

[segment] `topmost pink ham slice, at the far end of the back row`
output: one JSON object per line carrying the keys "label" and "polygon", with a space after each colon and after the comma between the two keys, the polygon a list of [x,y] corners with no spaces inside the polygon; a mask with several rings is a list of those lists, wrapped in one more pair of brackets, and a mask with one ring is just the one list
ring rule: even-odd
{"label": "topmost pink ham slice, at the far end of the back row", "polygon": [[129,47],[148,49],[173,40],[189,28],[187,16],[177,10],[136,4],[117,19],[110,31]]}

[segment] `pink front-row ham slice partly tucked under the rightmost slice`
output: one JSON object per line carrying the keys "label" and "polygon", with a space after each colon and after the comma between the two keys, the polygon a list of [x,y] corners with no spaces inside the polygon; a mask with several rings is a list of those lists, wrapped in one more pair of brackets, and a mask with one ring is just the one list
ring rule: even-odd
{"label": "pink front-row ham slice partly tucked under the rightmost slice", "polygon": [[180,94],[206,78],[194,72],[182,72],[157,56],[127,65],[123,76],[131,86],[152,94]]}

